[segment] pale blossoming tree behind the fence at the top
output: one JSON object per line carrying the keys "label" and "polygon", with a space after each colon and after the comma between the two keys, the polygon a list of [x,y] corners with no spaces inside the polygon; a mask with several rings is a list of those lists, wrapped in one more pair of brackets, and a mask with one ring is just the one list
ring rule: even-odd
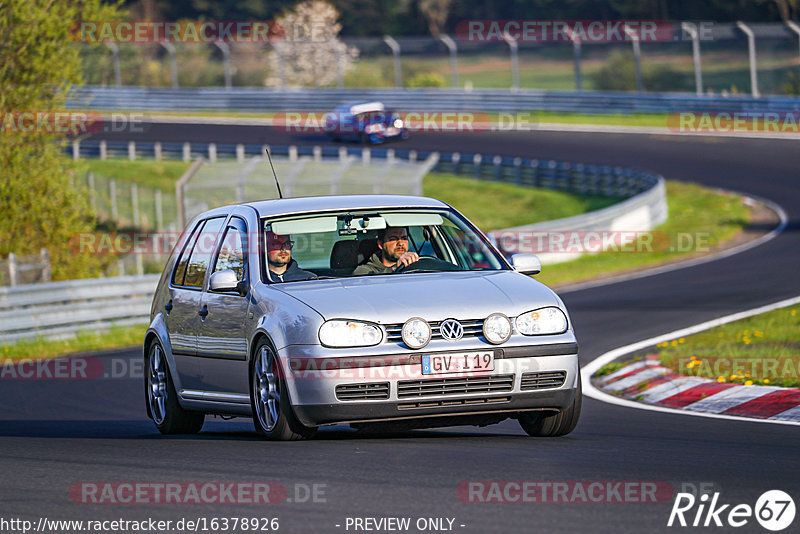
{"label": "pale blossoming tree behind the fence at the top", "polygon": [[[321,0],[306,0],[277,18],[284,37],[272,44],[266,85],[321,86],[344,75],[358,57],[358,49],[339,40],[339,12]],[[338,66],[337,66],[338,65]]]}

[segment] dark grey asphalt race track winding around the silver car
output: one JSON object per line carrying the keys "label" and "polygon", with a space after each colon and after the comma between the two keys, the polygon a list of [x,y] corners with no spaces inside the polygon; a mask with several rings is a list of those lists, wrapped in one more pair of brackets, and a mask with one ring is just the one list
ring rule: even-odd
{"label": "dark grey asphalt race track winding around the silver car", "polygon": [[[170,124],[118,138],[327,142],[263,127]],[[746,192],[786,210],[789,225],[782,234],[741,254],[562,293],[582,364],[615,347],[800,294],[796,141],[533,131],[418,134],[403,148],[627,165]],[[122,351],[101,360],[108,370],[138,358],[135,351]],[[420,517],[455,518],[455,531],[472,533],[695,530],[667,528],[672,498],[657,504],[469,503],[456,491],[465,481],[660,481],[676,491],[702,483],[720,492],[722,503],[753,506],[770,489],[784,490],[800,503],[800,430],[792,426],[646,412],[585,398],[578,427],[561,439],[528,438],[516,422],[507,421],[381,437],[337,427],[306,442],[270,443],[241,419],[209,419],[198,436],[162,437],[145,419],[140,374],[119,374],[3,380],[0,517],[278,517],[282,532],[366,531],[346,529],[348,517],[410,517],[409,532],[417,532],[414,521]],[[210,480],[278,482],[292,502],[92,505],[75,503],[69,495],[70,486],[83,481]],[[324,484],[326,493],[317,502],[297,502],[298,484]],[[797,525],[800,518],[787,532],[797,531]],[[736,530],[764,532],[753,518]]]}

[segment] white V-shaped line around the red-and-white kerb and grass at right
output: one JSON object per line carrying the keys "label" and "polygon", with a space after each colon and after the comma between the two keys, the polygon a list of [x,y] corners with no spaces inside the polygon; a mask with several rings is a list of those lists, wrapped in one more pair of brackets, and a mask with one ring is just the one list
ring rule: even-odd
{"label": "white V-shaped line around the red-and-white kerb and grass at right", "polygon": [[591,397],[593,399],[607,402],[609,404],[616,404],[617,406],[625,406],[628,408],[637,408],[639,410],[649,410],[651,412],[665,412],[665,413],[672,413],[672,414],[680,414],[680,415],[691,415],[695,417],[709,417],[712,419],[729,419],[734,421],[743,421],[743,422],[752,422],[752,423],[774,423],[779,425],[794,425],[800,426],[800,422],[797,421],[782,421],[779,419],[754,419],[749,417],[742,417],[742,416],[735,416],[735,415],[723,415],[723,414],[713,414],[707,412],[693,412],[691,410],[681,410],[678,408],[667,408],[664,406],[656,406],[652,404],[643,404],[641,402],[636,402],[632,400],[623,399],[620,397],[615,397],[614,395],[610,395],[604,391],[601,391],[594,387],[591,381],[591,376],[597,372],[602,366],[607,363],[610,363],[620,356],[624,356],[630,352],[634,352],[636,350],[644,349],[646,347],[650,347],[653,345],[657,345],[663,341],[669,341],[671,339],[675,339],[678,337],[685,337],[692,334],[696,334],[698,332],[702,332],[703,330],[708,330],[709,328],[714,328],[715,326],[720,326],[723,324],[727,324],[733,321],[738,321],[739,319],[745,319],[747,317],[752,317],[753,315],[758,315],[760,313],[765,313],[768,311],[776,310],[778,308],[785,308],[786,306],[792,306],[794,304],[800,303],[800,296],[792,297],[789,299],[781,300],[778,302],[774,302],[772,304],[767,304],[765,306],[760,306],[758,308],[753,308],[750,310],[745,310],[742,312],[734,313],[732,315],[726,315],[724,317],[719,317],[717,319],[713,319],[711,321],[706,321],[704,323],[696,324],[694,326],[689,326],[687,328],[681,328],[680,330],[675,330],[674,332],[669,332],[667,334],[662,334],[660,336],[651,337],[650,339],[644,339],[642,341],[637,341],[636,343],[632,343],[630,345],[626,345],[624,347],[619,347],[612,351],[606,352],[602,356],[595,358],[591,362],[587,363],[581,368],[581,378],[583,379],[583,392],[586,394],[587,397]]}

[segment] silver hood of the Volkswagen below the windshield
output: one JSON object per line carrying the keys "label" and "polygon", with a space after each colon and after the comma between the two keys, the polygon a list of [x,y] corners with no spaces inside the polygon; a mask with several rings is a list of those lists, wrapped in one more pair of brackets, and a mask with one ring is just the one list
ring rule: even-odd
{"label": "silver hood of the Volkswagen below the windshield", "polygon": [[326,320],[381,324],[403,323],[410,317],[482,319],[496,312],[513,317],[559,305],[552,290],[514,271],[372,275],[292,282],[279,288]]}

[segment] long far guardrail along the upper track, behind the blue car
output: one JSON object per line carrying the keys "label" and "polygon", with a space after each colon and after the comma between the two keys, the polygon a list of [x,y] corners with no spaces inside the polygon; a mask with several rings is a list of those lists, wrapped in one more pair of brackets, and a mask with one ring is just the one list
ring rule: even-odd
{"label": "long far guardrail along the upper track, behind the blue car", "polygon": [[76,89],[68,107],[138,111],[326,111],[340,104],[379,100],[401,111],[576,113],[672,113],[681,111],[800,111],[800,98],[690,93],[560,92],[537,90],[458,89],[314,89],[281,90],[259,87],[167,89],[99,87]]}

